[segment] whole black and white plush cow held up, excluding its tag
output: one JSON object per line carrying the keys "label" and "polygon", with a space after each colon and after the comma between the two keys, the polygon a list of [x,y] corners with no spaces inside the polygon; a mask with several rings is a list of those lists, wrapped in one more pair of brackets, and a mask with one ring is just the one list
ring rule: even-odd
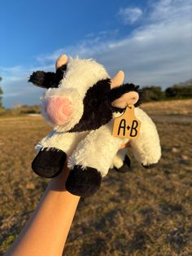
{"label": "whole black and white plush cow held up, excluding its tag", "polygon": [[[46,88],[42,97],[42,114],[54,130],[37,143],[33,160],[34,172],[52,178],[62,170],[65,161],[71,172],[66,188],[78,196],[91,196],[98,191],[102,178],[111,166],[124,170],[129,158],[117,153],[129,139],[111,135],[115,117],[127,104],[141,104],[139,86],[124,82],[124,73],[112,79],[102,64],[62,55],[56,72],[34,72],[29,80]],[[134,156],[143,166],[159,161],[159,135],[151,118],[140,108],[136,117],[142,122],[137,140],[130,141]]]}

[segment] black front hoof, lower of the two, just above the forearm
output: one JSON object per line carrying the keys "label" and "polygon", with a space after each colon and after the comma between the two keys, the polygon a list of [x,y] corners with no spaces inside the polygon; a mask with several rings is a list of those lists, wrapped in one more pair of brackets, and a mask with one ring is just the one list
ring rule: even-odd
{"label": "black front hoof, lower of the two, just above the forearm", "polygon": [[76,196],[92,196],[100,188],[102,175],[92,167],[74,166],[65,183],[68,192]]}

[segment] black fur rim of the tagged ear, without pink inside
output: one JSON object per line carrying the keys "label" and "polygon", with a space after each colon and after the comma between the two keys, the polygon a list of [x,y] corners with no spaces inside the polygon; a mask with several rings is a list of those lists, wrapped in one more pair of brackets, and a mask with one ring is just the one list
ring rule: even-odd
{"label": "black fur rim of the tagged ear, without pink inside", "polygon": [[[124,95],[125,93],[129,92],[129,91],[137,91],[138,95],[139,95],[139,99],[137,101],[136,104],[134,104],[135,107],[138,107],[139,105],[142,104],[142,89],[139,89],[139,86],[135,86],[133,83],[125,83],[124,85],[120,86],[120,87],[116,87],[111,89],[109,98],[112,101],[114,101],[115,99],[120,98],[122,95]],[[116,107],[112,107],[113,112],[124,112],[124,108],[116,108]]]}

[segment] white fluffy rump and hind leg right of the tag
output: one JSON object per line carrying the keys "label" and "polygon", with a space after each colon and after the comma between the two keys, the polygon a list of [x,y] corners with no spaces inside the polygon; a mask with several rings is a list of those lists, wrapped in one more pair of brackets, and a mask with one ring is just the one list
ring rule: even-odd
{"label": "white fluffy rump and hind leg right of the tag", "polygon": [[154,122],[140,108],[135,108],[136,117],[142,122],[140,135],[137,140],[131,140],[134,157],[142,166],[156,164],[161,157],[159,135]]}

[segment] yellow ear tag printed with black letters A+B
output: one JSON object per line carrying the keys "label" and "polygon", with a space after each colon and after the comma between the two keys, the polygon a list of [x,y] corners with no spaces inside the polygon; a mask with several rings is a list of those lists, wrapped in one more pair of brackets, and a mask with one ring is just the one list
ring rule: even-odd
{"label": "yellow ear tag printed with black letters A+B", "polygon": [[120,117],[116,117],[112,135],[123,139],[138,139],[141,121],[135,117],[134,106],[129,104]]}

